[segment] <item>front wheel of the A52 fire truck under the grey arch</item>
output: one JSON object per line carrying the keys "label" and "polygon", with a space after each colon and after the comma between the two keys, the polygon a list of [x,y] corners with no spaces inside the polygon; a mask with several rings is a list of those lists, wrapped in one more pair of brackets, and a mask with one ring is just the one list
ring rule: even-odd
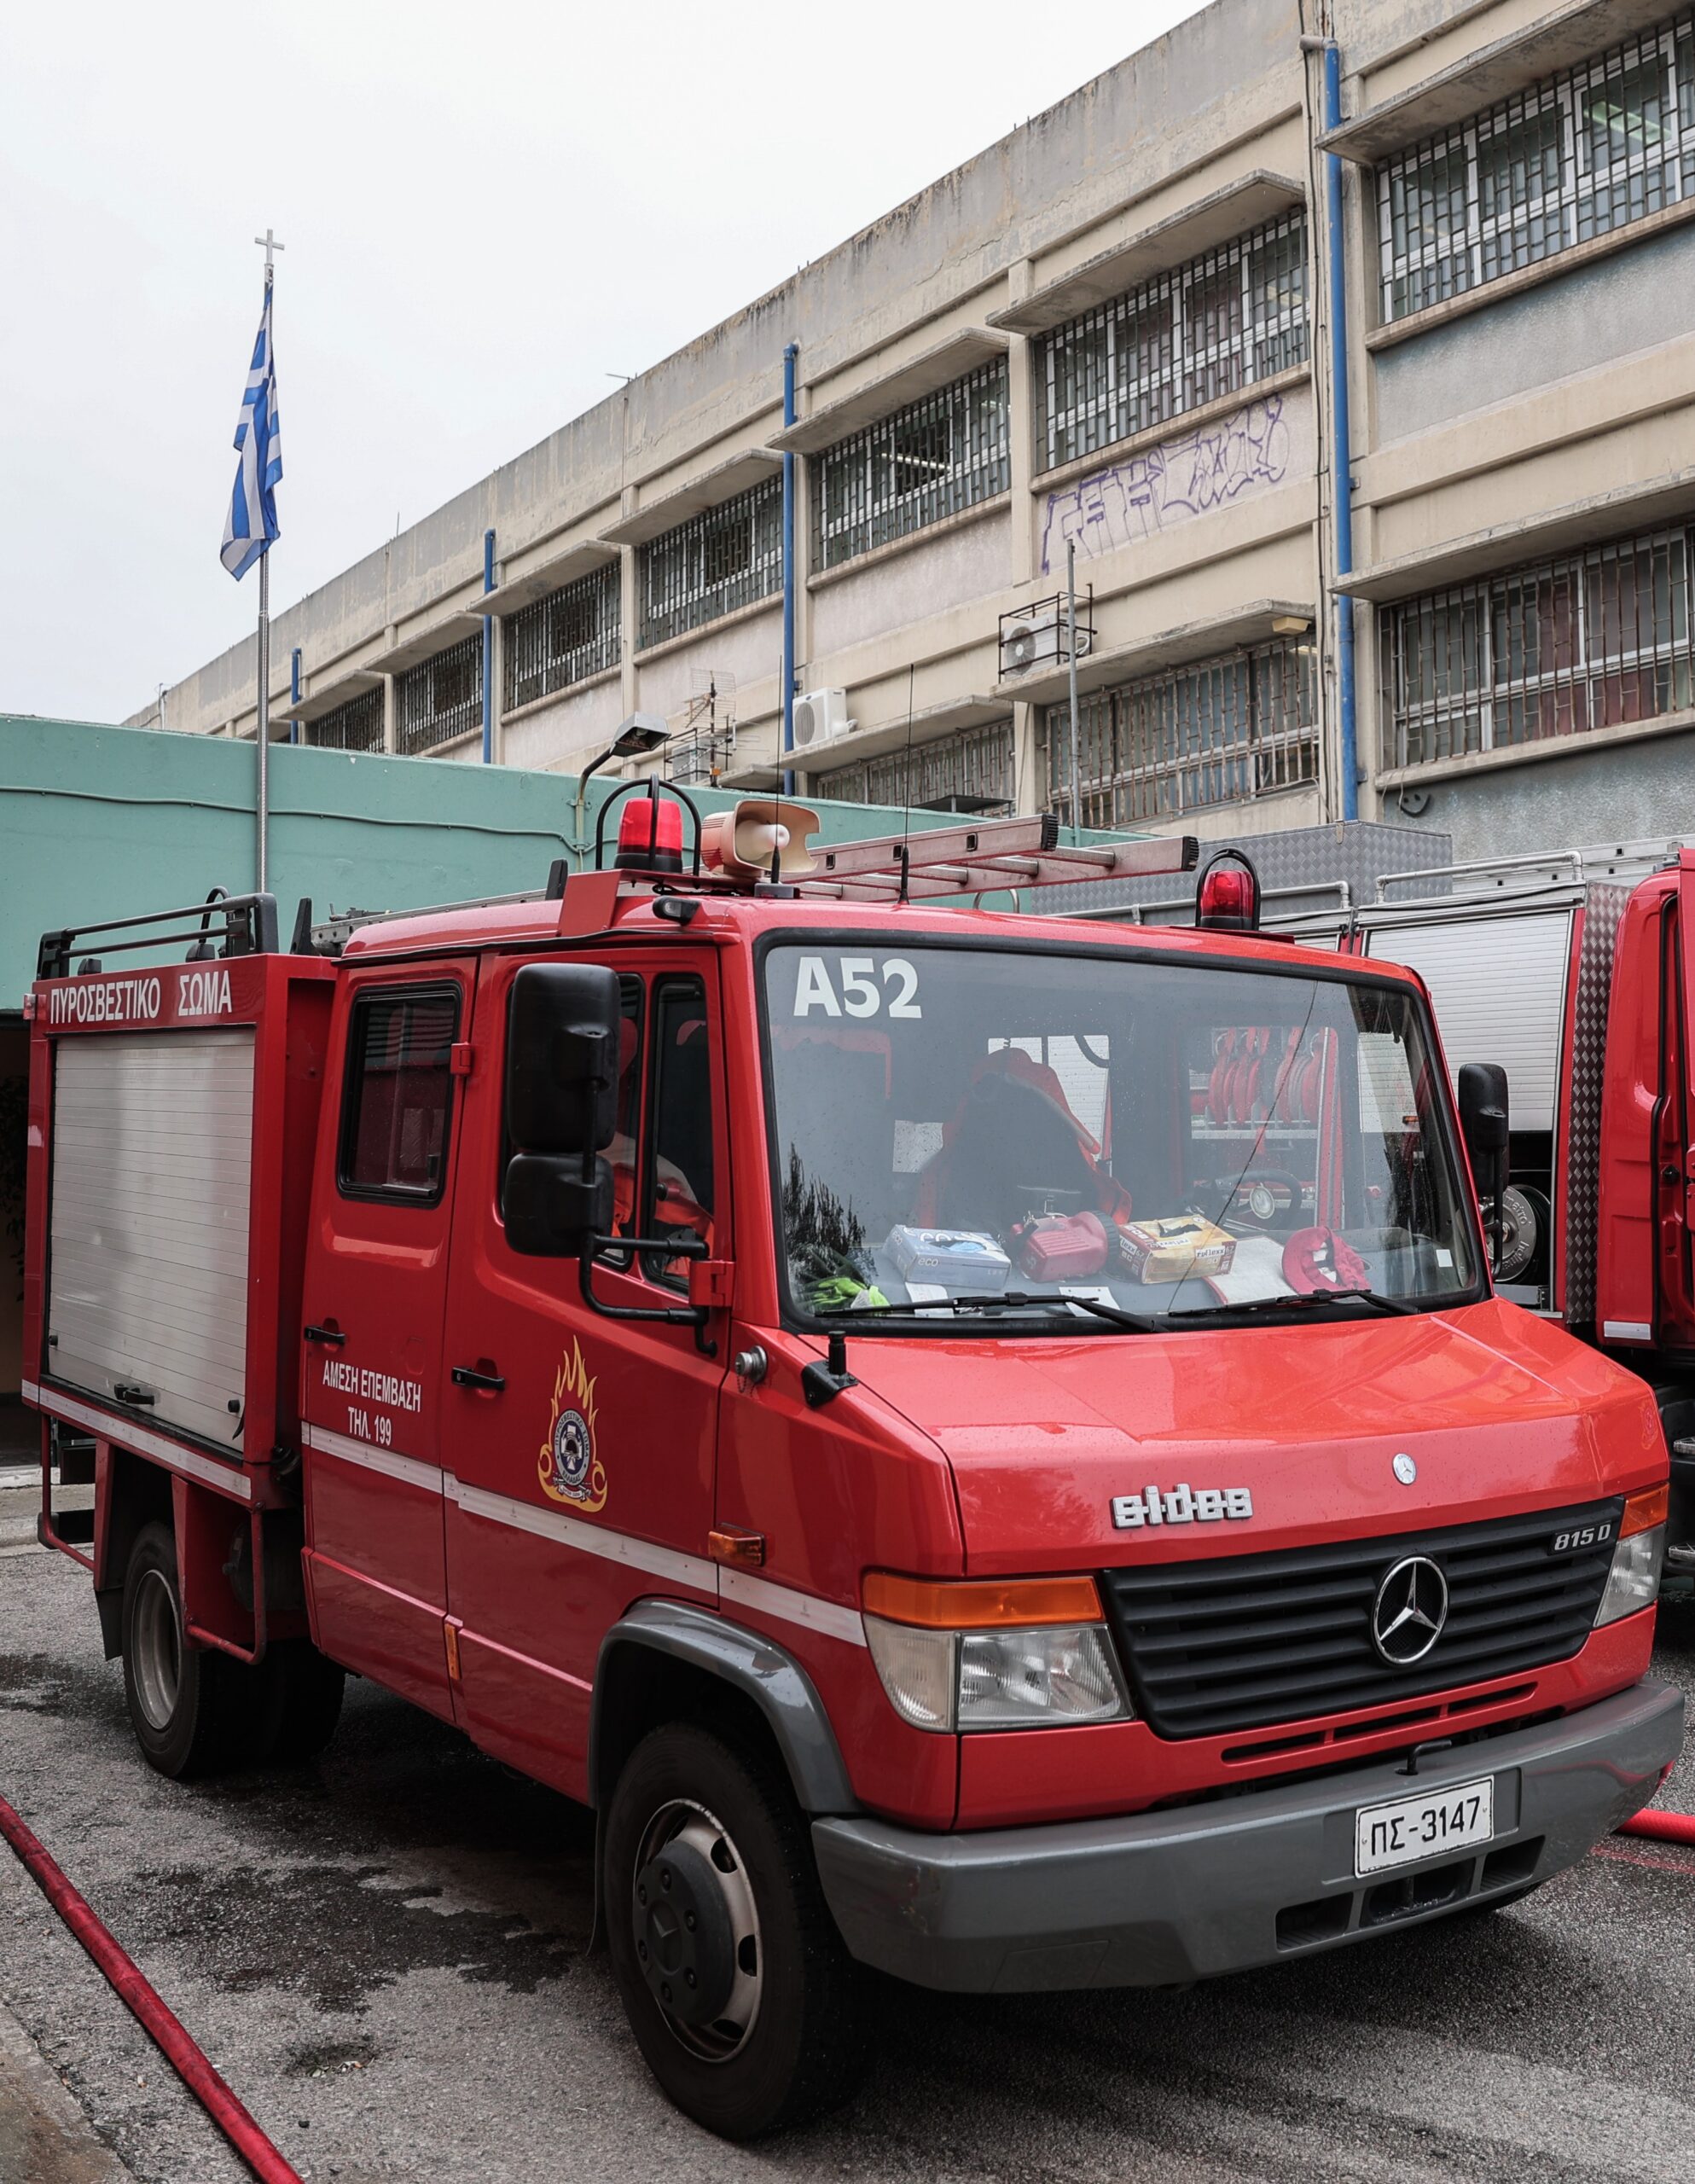
{"label": "front wheel of the A52 fire truck under the grey arch", "polygon": [[636,2044],[686,2116],[747,2140],[847,2099],[867,2053],[865,1974],[767,1752],[688,1723],[653,1730],[612,1795],[603,1887]]}

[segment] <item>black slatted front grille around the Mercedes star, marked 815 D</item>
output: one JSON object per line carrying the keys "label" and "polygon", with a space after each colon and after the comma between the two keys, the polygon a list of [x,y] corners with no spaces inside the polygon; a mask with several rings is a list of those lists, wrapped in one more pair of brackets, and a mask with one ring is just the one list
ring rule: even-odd
{"label": "black slatted front grille around the Mercedes star, marked 815 D", "polygon": [[[1223,1562],[1107,1570],[1103,1592],[1136,1708],[1160,1736],[1219,1736],[1391,1706],[1566,1660],[1601,1605],[1623,1500],[1492,1524],[1339,1540]],[[1553,1553],[1562,1531],[1599,1546]],[[1431,1653],[1389,1666],[1372,1642],[1378,1586],[1404,1555],[1448,1579]]]}

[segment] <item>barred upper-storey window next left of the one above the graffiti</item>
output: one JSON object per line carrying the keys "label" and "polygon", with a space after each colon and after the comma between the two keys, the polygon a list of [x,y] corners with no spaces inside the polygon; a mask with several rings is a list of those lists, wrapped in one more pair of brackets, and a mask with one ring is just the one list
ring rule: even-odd
{"label": "barred upper-storey window next left of the one above the graffiti", "polygon": [[813,463],[813,568],[837,568],[1011,487],[1007,358],[968,371]]}

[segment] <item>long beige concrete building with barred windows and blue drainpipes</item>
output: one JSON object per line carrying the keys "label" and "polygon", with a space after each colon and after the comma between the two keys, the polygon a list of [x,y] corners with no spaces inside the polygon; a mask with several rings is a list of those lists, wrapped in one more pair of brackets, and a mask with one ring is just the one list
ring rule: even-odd
{"label": "long beige concrete building with barred windows and blue drainpipes", "polygon": [[1695,830],[1691,218],[1695,9],[1214,0],[280,616],[273,721],[764,786],[789,470],[813,793],[1068,812],[1075,550],[1094,826],[1346,817],[1346,622],[1361,817]]}

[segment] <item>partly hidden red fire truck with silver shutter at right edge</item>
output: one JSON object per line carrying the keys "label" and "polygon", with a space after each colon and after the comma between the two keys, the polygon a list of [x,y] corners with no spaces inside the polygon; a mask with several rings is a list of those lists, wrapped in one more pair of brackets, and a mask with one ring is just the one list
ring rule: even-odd
{"label": "partly hidden red fire truck with silver shutter at right edge", "polygon": [[1695,1575],[1695,850],[1608,843],[1396,874],[1289,919],[1411,965],[1448,1061],[1512,1090],[1496,1293],[1653,1389],[1671,1450],[1667,1572]]}

